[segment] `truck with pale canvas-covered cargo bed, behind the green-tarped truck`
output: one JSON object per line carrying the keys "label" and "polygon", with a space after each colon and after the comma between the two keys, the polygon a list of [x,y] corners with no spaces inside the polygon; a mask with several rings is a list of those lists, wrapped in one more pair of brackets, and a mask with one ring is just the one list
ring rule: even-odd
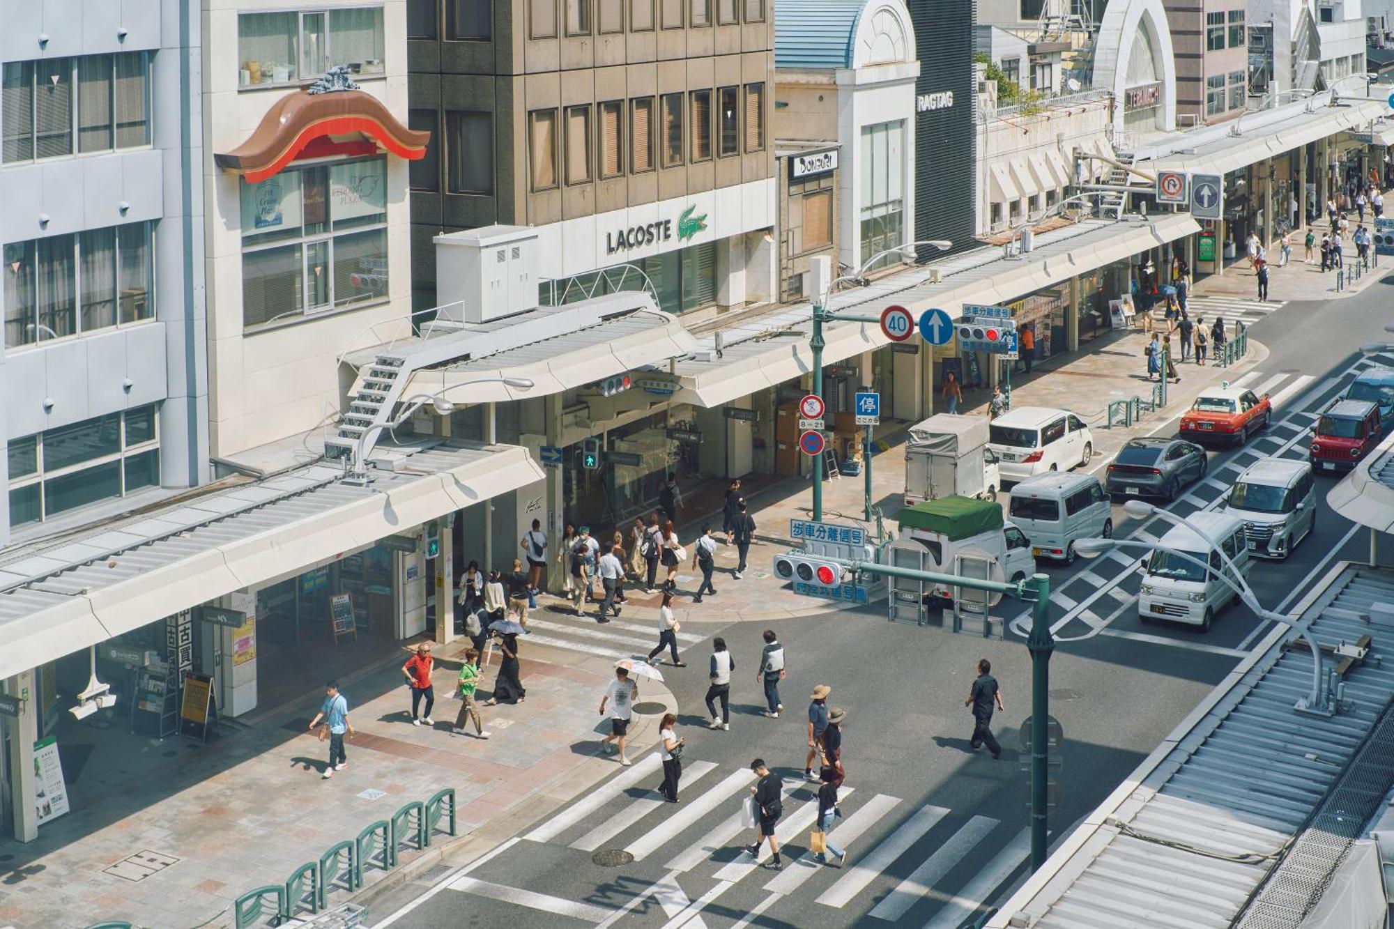
{"label": "truck with pale canvas-covered cargo bed, behind the green-tarped truck", "polygon": [[910,427],[905,444],[905,505],[958,494],[997,499],[997,455],[987,417],[937,413]]}

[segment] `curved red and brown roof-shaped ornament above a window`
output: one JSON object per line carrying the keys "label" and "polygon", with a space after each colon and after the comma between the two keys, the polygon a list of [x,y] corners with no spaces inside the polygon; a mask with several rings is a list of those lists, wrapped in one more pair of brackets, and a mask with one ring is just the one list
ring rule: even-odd
{"label": "curved red and brown roof-shaped ornament above a window", "polygon": [[319,156],[332,151],[335,137],[354,134],[399,158],[425,158],[431,133],[399,123],[378,98],[357,89],[347,71],[336,74],[340,70],[332,68],[308,89],[276,100],[245,142],[213,155],[213,162],[255,184],[305,156],[307,148],[309,156]]}

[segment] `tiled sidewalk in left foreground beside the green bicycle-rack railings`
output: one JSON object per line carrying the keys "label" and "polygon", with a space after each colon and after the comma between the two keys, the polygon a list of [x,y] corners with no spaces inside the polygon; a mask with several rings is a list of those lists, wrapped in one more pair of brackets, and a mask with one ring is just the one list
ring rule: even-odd
{"label": "tiled sidewalk in left foreground beside the green bicycle-rack railings", "polygon": [[[611,663],[527,639],[520,644],[527,700],[481,707],[488,741],[449,731],[460,703],[447,695],[467,642],[438,646],[434,728],[408,724],[400,665],[410,651],[393,649],[342,681],[357,735],[346,743],[348,767],[332,780],[321,780],[328,742],[307,731],[323,699],[312,674],[305,685],[315,689],[302,702],[258,714],[252,725],[227,723],[206,746],[181,737],[163,743],[127,737],[131,743],[121,750],[163,749],[174,757],[158,777],[131,778],[100,802],[46,823],[35,843],[0,841],[0,926],[81,928],[105,919],[146,929],[230,926],[240,894],[284,883],[335,843],[446,787],[456,790],[461,836],[512,834],[519,817],[551,812],[618,764],[599,753],[609,727],[597,714],[613,679]],[[498,656],[485,683],[492,686],[496,670]],[[676,709],[665,685],[638,685],[631,756],[657,743],[659,717]],[[112,724],[120,727],[120,717]],[[100,757],[92,760],[100,766]],[[439,859],[461,841],[438,834],[425,852],[404,851],[397,870],[367,870],[365,887],[399,883],[414,859]],[[142,852],[174,863],[144,877],[137,876],[148,869],[113,868]],[[348,894],[329,900],[342,904]]]}

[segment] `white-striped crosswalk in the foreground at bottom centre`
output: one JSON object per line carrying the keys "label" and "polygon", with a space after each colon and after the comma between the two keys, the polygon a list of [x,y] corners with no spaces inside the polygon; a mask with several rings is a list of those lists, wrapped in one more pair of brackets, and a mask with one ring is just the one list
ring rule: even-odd
{"label": "white-striped crosswalk in the foreground at bottom centre", "polygon": [[[744,848],[753,836],[742,812],[754,783],[749,769],[690,762],[680,802],[669,805],[654,790],[658,767],[657,753],[643,756],[447,877],[445,889],[502,904],[519,925],[528,911],[534,919],[549,912],[598,928],[661,911],[668,929],[739,929],[761,914],[788,925],[958,929],[1029,856],[1026,831],[991,816],[848,784],[839,791],[843,816],[828,831],[848,852],[846,866],[829,868],[809,849],[818,816],[814,785],[786,780],[775,830],[783,868],[772,870],[768,844],[760,858]],[[592,852],[626,863],[619,872],[587,870],[595,866]],[[583,875],[587,889],[594,876],[597,893],[567,891],[559,873]]]}

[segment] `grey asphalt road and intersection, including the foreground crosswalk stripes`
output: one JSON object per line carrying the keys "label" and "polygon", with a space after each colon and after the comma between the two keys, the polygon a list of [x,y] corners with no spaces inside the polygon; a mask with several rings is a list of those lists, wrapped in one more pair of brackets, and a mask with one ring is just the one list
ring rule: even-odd
{"label": "grey asphalt road and intersection, including the foreground crosswalk stripes", "polygon": [[[1390,338],[1383,325],[1394,285],[1327,304],[1292,303],[1252,328],[1271,354],[1246,384],[1271,382],[1273,427],[1243,449],[1210,455],[1210,483],[1196,484],[1172,512],[1213,508],[1227,481],[1260,455],[1305,456],[1315,411],[1368,364],[1355,347]],[[1394,353],[1384,358],[1394,364]],[[1182,371],[1184,375],[1184,371]],[[1284,375],[1284,377],[1278,377]],[[1294,386],[1295,385],[1295,386]],[[1158,423],[1171,434],[1175,423]],[[1107,462],[1094,462],[1101,469]],[[1260,601],[1284,610],[1334,561],[1368,551],[1363,533],[1331,512],[1317,478],[1317,526],[1285,562],[1256,562],[1249,580]],[[1163,534],[1165,526],[1114,508],[1117,536]],[[1138,618],[1135,557],[1041,562],[1051,575],[1051,621],[1059,637],[1051,663],[1051,714],[1064,742],[1057,753],[1058,805],[1052,838],[1101,802],[1259,640],[1264,625],[1234,605],[1209,633]],[[1023,630],[1018,607],[998,610]],[[1018,622],[1012,622],[1013,618]],[[1030,658],[1022,639],[953,635],[937,624],[891,624],[884,604],[774,624],[789,678],[779,720],[758,714],[754,670],[761,628],[712,624],[684,632],[722,635],[736,657],[732,728],[708,731],[708,643],[687,649],[690,667],[668,674],[687,713],[682,802],[657,801],[657,769],[619,769],[573,805],[541,820],[484,859],[447,873],[429,891],[413,886],[379,901],[369,923],[397,929],[461,925],[757,926],[903,925],[958,929],[983,915],[1025,872],[1027,852],[1025,755],[1016,730],[1029,716]],[[1001,760],[972,753],[963,709],[980,657],[994,664],[1006,711],[995,730]],[[845,819],[831,833],[850,852],[848,866],[809,865],[813,794],[802,783],[804,709],[815,683],[849,713],[843,757]],[[733,823],[750,760],[763,756],[788,778],[788,844],[782,872],[756,866],[740,849],[750,830]],[[654,764],[650,762],[648,764]],[[626,773],[633,771],[633,774]],[[841,836],[839,836],[841,833]],[[625,851],[618,865],[602,852]],[[796,858],[796,861],[790,861]],[[425,893],[422,893],[425,891]],[[980,908],[981,905],[981,908]],[[411,907],[395,918],[400,907]]]}

